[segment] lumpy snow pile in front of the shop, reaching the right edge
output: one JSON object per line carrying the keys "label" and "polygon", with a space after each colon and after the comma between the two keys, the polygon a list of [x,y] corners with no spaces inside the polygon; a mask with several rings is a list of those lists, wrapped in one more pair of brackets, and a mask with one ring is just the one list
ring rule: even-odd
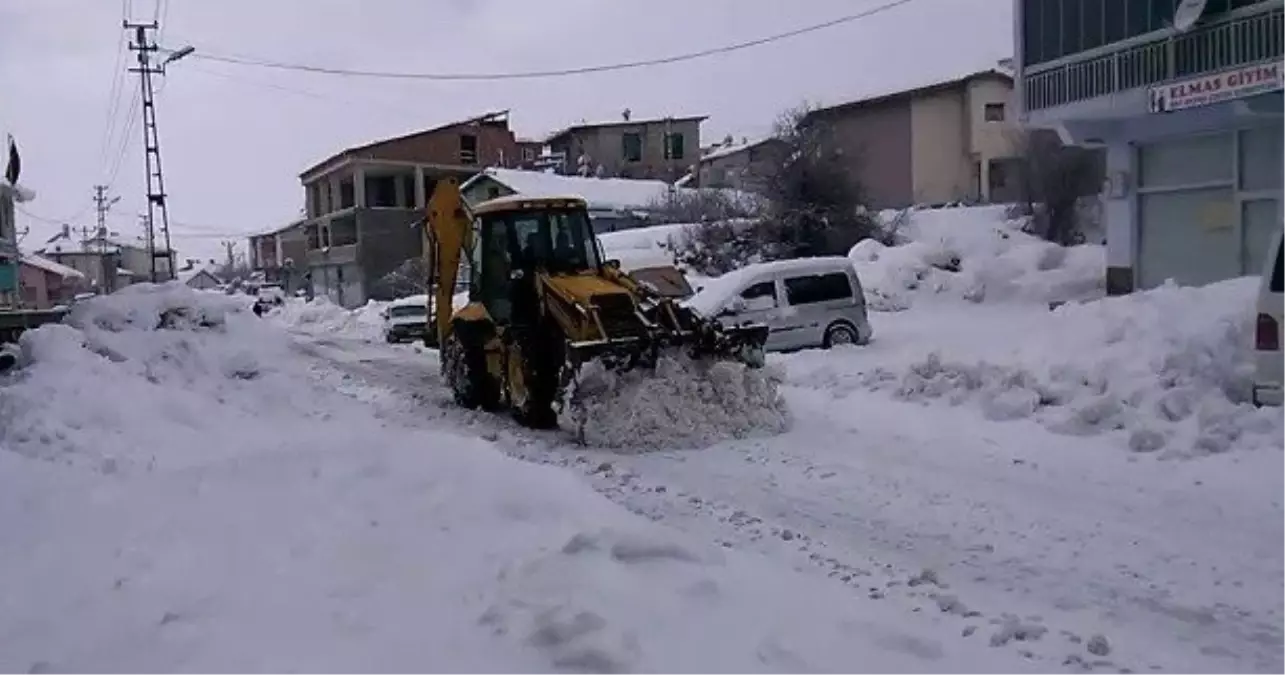
{"label": "lumpy snow pile in front of the shop, reaching the right edge", "polygon": [[1037,330],[1005,336],[993,357],[944,348],[875,368],[865,383],[907,400],[975,402],[991,419],[1029,418],[1058,433],[1123,432],[1139,453],[1280,445],[1280,411],[1249,404],[1257,285],[1244,278],[1064,305]]}

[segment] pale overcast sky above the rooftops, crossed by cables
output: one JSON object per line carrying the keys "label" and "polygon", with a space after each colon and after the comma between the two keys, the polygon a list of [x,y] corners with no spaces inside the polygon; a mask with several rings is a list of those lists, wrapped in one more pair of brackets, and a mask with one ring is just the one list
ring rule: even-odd
{"label": "pale overcast sky above the rooftops, crossed by cables", "polygon": [[[885,0],[0,0],[0,130],[22,149],[26,210],[93,225],[93,185],[121,195],[109,225],[139,233],[136,76],[111,99],[134,19],[162,8],[162,46],[355,69],[502,72],[663,57],[783,32]],[[912,0],[884,14],[739,53],[556,80],[427,82],[173,64],[158,95],[175,246],[209,257],[292,219],[298,172],[347,145],[511,109],[522,136],[581,120],[708,114],[702,143],[762,135],[783,109],[835,103],[992,66],[1011,53],[1007,0]],[[135,111],[134,117],[137,117]],[[109,129],[109,120],[113,122]],[[128,131],[126,136],[123,132]],[[123,153],[121,152],[123,149]],[[57,225],[19,213],[37,248]],[[244,251],[244,242],[238,248]]]}

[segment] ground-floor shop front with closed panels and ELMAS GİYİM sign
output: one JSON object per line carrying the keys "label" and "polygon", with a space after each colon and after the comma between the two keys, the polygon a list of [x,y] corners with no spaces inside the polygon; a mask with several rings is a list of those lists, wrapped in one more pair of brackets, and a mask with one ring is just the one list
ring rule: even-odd
{"label": "ground-floor shop front with closed panels and ELMAS G\u0130Y\u0130M sign", "polygon": [[1261,274],[1281,217],[1282,76],[1268,64],[1171,82],[1137,114],[1064,123],[1106,148],[1110,293]]}

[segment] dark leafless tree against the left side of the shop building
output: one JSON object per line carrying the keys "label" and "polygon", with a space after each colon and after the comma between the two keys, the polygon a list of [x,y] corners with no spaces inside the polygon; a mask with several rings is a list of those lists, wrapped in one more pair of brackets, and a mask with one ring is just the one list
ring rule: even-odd
{"label": "dark leafless tree against the left side of the shop building", "polygon": [[1065,145],[1056,132],[1033,130],[1018,140],[1022,215],[1025,230],[1060,246],[1083,243],[1091,210],[1082,201],[1099,192],[1105,177],[1101,150]]}

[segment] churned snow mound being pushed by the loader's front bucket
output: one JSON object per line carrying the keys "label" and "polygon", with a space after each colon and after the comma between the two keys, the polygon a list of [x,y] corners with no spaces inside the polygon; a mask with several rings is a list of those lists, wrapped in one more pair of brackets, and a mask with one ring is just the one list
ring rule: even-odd
{"label": "churned snow mound being pushed by the loader's front bucket", "polygon": [[780,433],[790,424],[777,391],[781,378],[771,368],[686,356],[662,356],[654,370],[626,372],[595,360],[568,393],[565,427],[581,444],[637,451]]}

